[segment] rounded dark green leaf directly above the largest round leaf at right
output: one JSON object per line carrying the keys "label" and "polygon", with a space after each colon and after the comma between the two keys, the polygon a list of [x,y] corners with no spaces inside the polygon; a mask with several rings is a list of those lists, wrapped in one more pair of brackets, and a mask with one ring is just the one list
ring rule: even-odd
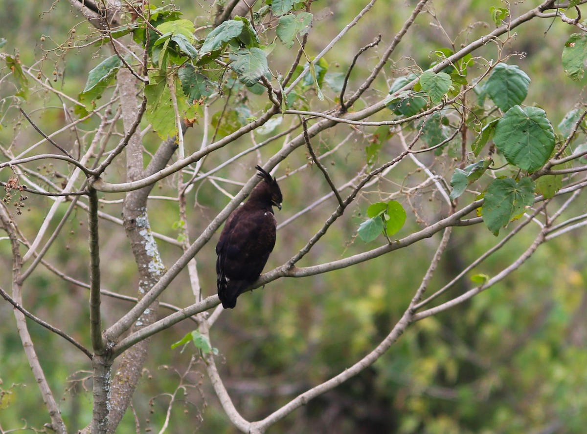
{"label": "rounded dark green leaf directly above the largest round leaf at right", "polygon": [[497,107],[507,111],[528,95],[530,77],[515,65],[499,63],[485,83],[484,90]]}

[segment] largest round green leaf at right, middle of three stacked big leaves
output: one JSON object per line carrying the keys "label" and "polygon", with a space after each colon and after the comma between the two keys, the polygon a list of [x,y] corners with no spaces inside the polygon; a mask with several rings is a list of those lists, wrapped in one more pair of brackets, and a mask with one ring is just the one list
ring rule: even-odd
{"label": "largest round green leaf at right, middle of three stacked big leaves", "polygon": [[497,122],[493,142],[508,163],[532,173],[551,156],[555,136],[544,110],[516,105]]}

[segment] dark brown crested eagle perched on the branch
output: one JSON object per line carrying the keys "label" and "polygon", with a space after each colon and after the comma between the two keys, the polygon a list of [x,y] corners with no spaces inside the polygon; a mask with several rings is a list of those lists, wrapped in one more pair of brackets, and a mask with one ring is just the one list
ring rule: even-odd
{"label": "dark brown crested eagle perched on the branch", "polygon": [[216,245],[218,297],[224,309],[237,305],[237,297],[261,275],[275,246],[273,206],[281,210],[281,190],[261,166],[255,169],[262,181],[248,200],[232,211]]}

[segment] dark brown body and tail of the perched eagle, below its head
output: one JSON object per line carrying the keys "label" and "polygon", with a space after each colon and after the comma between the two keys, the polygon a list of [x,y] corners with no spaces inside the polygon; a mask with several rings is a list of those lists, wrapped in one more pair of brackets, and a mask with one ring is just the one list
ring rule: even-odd
{"label": "dark brown body and tail of the perched eagle, below its head", "polygon": [[237,209],[224,226],[216,246],[218,295],[234,307],[238,295],[254,282],[275,246],[275,216],[271,211]]}

